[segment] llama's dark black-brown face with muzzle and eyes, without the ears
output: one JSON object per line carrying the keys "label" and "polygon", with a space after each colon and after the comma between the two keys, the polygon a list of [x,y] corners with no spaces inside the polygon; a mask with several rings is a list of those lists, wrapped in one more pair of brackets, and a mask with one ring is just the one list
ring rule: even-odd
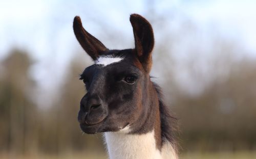
{"label": "llama's dark black-brown face with muzzle and eyes, without the ears", "polygon": [[106,66],[96,63],[81,74],[87,94],[81,100],[78,118],[86,133],[118,131],[138,118],[140,88],[146,77],[134,64],[136,59],[125,56],[132,55],[131,51],[111,51],[111,57],[116,53],[122,60]]}

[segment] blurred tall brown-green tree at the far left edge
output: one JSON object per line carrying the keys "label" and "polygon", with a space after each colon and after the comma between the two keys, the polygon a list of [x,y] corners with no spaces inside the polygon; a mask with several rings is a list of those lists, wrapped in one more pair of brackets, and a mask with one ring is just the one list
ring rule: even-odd
{"label": "blurred tall brown-green tree at the far left edge", "polygon": [[25,153],[35,146],[36,108],[30,91],[32,62],[26,51],[14,49],[3,60],[0,78],[0,150]]}

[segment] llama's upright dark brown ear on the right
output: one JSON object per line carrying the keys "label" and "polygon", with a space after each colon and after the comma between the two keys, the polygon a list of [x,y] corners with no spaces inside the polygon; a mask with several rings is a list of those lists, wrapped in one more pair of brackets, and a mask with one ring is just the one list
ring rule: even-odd
{"label": "llama's upright dark brown ear on the right", "polygon": [[135,51],[146,72],[150,72],[152,65],[152,50],[154,47],[154,33],[150,22],[139,14],[132,14],[130,21],[133,26]]}

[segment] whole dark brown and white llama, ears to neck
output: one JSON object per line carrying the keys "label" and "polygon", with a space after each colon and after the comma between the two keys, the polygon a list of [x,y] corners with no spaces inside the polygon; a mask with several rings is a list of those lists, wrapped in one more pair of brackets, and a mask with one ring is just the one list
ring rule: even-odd
{"label": "whole dark brown and white llama, ears to neck", "polygon": [[132,14],[134,49],[108,49],[74,18],[75,36],[94,60],[80,75],[87,94],[78,121],[84,133],[103,133],[111,159],[177,159],[174,118],[151,81],[154,34],[151,24]]}

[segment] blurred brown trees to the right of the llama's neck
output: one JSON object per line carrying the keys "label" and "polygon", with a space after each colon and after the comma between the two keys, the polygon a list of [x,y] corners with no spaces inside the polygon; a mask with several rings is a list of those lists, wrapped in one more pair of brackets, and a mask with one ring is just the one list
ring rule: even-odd
{"label": "blurred brown trees to the right of the llama's neck", "polygon": [[255,149],[255,61],[233,63],[231,68],[225,80],[216,78],[199,96],[180,94],[173,103],[187,149]]}

